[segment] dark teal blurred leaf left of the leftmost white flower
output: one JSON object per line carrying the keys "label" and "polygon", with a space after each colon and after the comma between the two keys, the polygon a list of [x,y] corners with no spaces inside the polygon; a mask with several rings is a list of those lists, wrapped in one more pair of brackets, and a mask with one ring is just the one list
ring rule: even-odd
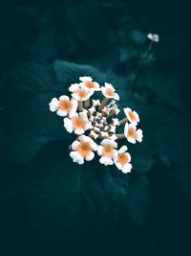
{"label": "dark teal blurred leaf left of the leftmost white flower", "polygon": [[68,137],[62,119],[50,112],[48,105],[64,92],[64,86],[61,90],[56,85],[53,68],[43,62],[27,63],[8,75],[3,114],[8,136],[4,156],[9,161],[27,163],[47,142]]}

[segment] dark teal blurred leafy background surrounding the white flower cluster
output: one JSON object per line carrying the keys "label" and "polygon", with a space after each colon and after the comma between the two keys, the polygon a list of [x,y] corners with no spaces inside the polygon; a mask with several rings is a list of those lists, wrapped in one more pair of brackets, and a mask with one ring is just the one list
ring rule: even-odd
{"label": "dark teal blurred leafy background surrounding the white flower cluster", "polygon": [[[188,3],[1,1],[0,27],[0,255],[190,255]],[[130,175],[69,157],[48,104],[85,75],[139,113]]]}

